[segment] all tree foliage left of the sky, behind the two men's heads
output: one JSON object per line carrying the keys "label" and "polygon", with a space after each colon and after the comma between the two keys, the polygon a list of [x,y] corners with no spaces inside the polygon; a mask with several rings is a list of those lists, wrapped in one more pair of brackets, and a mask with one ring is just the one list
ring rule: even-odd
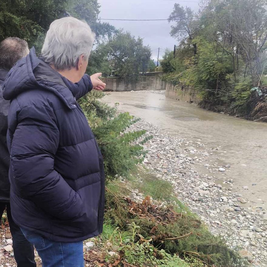
{"label": "all tree foliage left of the sky, behind the two men's heads", "polygon": [[74,16],[85,20],[96,35],[89,73],[110,75],[113,71],[113,75],[131,79],[153,67],[151,49],[143,45],[142,38],[101,22],[99,8],[97,0],[0,1],[0,41],[10,36],[19,37],[40,52],[50,23],[57,18]]}

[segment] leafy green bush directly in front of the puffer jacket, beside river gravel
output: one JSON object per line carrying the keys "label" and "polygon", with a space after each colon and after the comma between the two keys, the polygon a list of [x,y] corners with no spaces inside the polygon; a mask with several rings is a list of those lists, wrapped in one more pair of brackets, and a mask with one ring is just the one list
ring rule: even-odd
{"label": "leafy green bush directly in front of the puffer jacket, beside river gravel", "polygon": [[145,130],[126,131],[137,122],[128,113],[116,115],[114,108],[99,101],[101,92],[91,92],[79,100],[101,149],[107,180],[127,176],[137,163],[143,161],[142,144],[151,137],[141,139]]}

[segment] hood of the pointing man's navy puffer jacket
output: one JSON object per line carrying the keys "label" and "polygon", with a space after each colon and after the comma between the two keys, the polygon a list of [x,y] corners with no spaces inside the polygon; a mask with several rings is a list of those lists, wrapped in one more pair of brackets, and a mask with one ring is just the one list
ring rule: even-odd
{"label": "hood of the pointing man's navy puffer jacket", "polygon": [[[3,86],[6,100],[16,98],[25,90],[42,88],[57,95],[69,108],[76,108],[74,95],[78,86],[60,75],[35,54],[35,48],[8,72]],[[69,90],[68,90],[69,89]]]}

